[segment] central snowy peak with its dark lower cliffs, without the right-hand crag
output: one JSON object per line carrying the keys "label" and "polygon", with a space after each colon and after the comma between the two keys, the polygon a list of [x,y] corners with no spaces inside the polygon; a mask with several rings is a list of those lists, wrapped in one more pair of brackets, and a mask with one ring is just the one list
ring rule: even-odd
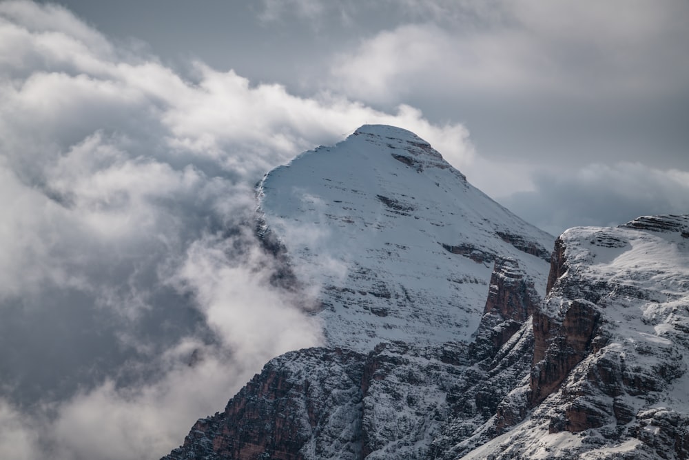
{"label": "central snowy peak with its dark lower cliffs, without the right-hand crag", "polygon": [[258,199],[278,282],[318,288],[327,348],[268,363],[167,458],[422,458],[528,373],[531,336],[505,343],[545,294],[553,237],[426,141],[363,126],[269,172]]}

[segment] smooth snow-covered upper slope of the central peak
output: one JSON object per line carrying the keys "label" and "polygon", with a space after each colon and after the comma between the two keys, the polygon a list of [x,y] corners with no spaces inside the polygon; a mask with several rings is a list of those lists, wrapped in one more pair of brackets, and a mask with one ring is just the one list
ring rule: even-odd
{"label": "smooth snow-covered upper slope of the central peak", "polygon": [[258,196],[260,231],[320,288],[330,346],[469,340],[497,257],[517,260],[544,296],[553,237],[407,130],[362,126],[269,172]]}

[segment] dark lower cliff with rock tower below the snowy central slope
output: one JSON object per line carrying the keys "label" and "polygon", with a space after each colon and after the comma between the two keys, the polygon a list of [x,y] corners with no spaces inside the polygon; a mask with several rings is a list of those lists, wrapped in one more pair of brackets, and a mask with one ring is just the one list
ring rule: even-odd
{"label": "dark lower cliff with rock tower below the snowy central slope", "polygon": [[[531,368],[531,322],[498,342],[538,301],[514,259],[497,262],[492,279],[480,326],[485,348],[394,342],[367,354],[287,353],[165,458],[454,459],[492,439],[511,426],[509,416],[486,422]],[[525,293],[533,303],[517,308]]]}

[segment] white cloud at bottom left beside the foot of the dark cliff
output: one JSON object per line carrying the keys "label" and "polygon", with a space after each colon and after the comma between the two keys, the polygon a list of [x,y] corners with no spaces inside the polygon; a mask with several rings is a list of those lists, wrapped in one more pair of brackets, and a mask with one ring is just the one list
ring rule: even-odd
{"label": "white cloud at bottom left beside the foot of the dark cliff", "polygon": [[228,399],[223,393],[254,372],[194,345],[204,358],[189,366],[189,354],[178,357],[161,381],[136,388],[106,381],[56,406],[42,439],[52,458],[156,458],[182,443],[197,418],[223,408]]}

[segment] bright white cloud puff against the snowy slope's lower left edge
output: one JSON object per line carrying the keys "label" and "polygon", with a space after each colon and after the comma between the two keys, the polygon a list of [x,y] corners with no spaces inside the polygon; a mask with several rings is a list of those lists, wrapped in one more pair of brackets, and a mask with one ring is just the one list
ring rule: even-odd
{"label": "bright white cloud puff against the snowy slope's lower left edge", "polygon": [[273,271],[267,268],[274,261],[246,243],[236,254],[237,242],[209,237],[194,241],[175,279],[183,290],[195,293],[223,345],[238,356],[266,357],[319,344],[318,322],[303,314],[314,299],[304,292],[293,298],[269,288]]}

